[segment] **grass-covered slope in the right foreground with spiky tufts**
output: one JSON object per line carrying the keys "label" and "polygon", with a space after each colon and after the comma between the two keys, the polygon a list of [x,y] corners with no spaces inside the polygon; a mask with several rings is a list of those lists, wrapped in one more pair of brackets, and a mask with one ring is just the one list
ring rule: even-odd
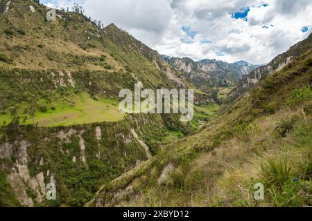
{"label": "grass-covered slope in the right foreground with spiky tufts", "polygon": [[[311,206],[311,83],[310,46],[87,206]],[[257,183],[264,200],[254,200]]]}

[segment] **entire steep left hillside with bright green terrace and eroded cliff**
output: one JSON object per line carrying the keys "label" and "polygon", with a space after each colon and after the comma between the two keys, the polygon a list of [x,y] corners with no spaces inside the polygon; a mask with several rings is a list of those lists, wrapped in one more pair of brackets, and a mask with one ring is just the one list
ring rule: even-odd
{"label": "entire steep left hillside with bright green terrace and eroded cliff", "polygon": [[[49,10],[33,0],[0,1],[0,206],[83,206],[103,182],[198,131],[218,109],[198,106],[188,123],[119,113],[121,89],[177,82],[146,57],[149,48],[126,49],[127,39],[139,41],[116,26],[101,29],[62,10],[47,21]],[[196,93],[197,104],[209,102]],[[53,202],[44,197],[51,182]]]}

